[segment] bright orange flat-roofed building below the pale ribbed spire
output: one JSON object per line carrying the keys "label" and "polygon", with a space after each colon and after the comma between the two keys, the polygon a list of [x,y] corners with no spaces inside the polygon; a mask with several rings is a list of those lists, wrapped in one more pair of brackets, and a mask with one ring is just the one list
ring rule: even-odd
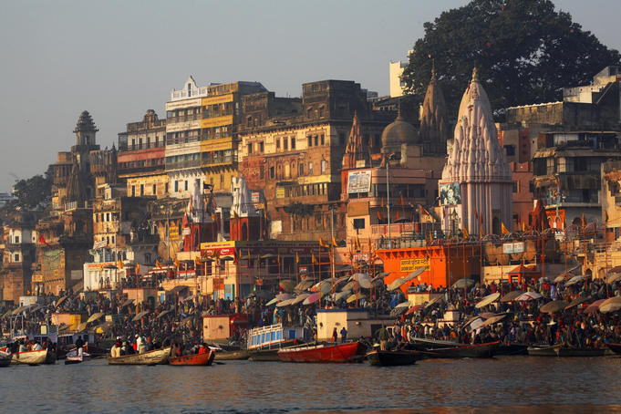
{"label": "bright orange flat-roofed building below the pale ribbed spire", "polygon": [[477,282],[481,280],[479,243],[387,249],[378,250],[376,254],[384,263],[384,272],[390,273],[384,279],[386,285],[420,267],[426,268],[417,279],[401,286],[403,292],[407,292],[410,285],[451,286],[464,276]]}

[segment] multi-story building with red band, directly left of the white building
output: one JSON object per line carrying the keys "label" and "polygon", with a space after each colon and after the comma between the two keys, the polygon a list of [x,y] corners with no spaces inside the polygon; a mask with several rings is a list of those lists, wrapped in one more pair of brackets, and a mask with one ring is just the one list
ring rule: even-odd
{"label": "multi-story building with red band, directly left of the white building", "polygon": [[129,122],[119,133],[119,181],[125,181],[127,194],[163,196],[169,191],[166,174],[166,119],[153,109],[138,122]]}

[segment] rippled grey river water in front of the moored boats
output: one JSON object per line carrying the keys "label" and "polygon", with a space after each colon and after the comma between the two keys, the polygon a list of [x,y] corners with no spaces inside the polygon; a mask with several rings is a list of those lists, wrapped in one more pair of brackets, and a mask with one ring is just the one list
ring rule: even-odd
{"label": "rippled grey river water in front of the moored boats", "polygon": [[409,367],[225,361],[212,367],[0,368],[0,411],[621,412],[621,357],[436,359]]}

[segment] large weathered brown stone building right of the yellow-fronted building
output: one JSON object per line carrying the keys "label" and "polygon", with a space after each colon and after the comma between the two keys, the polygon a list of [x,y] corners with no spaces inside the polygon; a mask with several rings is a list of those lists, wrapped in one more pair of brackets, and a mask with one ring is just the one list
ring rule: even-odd
{"label": "large weathered brown stone building right of the yellow-fronted building", "polygon": [[243,98],[240,171],[251,190],[264,191],[270,237],[330,240],[329,206],[336,208],[336,239],[346,237],[341,165],[356,113],[364,145],[378,152],[388,121],[370,109],[353,81],[306,83],[301,105],[295,98]]}

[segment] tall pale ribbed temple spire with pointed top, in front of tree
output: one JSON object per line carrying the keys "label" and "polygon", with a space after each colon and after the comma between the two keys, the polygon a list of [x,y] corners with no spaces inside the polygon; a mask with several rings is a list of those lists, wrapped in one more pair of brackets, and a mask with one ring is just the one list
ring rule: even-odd
{"label": "tall pale ribbed temple spire with pointed top, in front of tree", "polygon": [[440,181],[457,183],[461,204],[442,206],[442,226],[448,232],[463,228],[479,234],[500,234],[502,223],[512,225],[512,173],[493,122],[490,99],[476,68],[461,98],[450,152]]}

